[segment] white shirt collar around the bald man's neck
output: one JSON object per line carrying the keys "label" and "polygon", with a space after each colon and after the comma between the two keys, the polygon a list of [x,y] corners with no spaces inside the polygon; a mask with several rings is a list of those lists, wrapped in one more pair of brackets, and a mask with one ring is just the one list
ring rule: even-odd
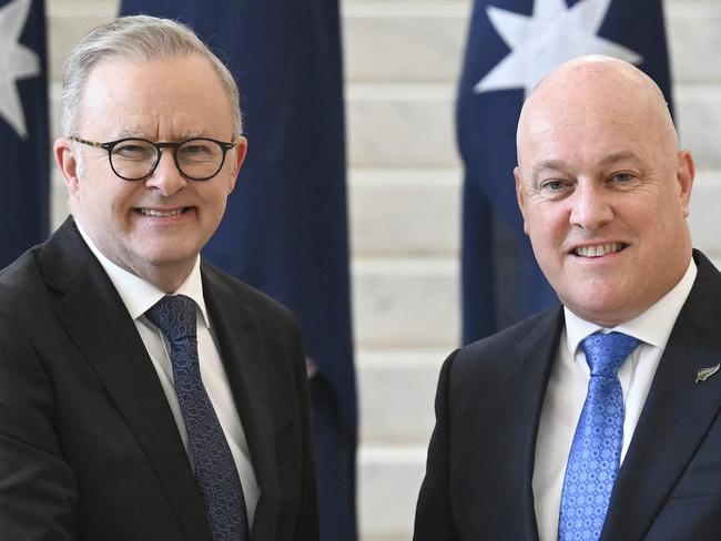
{"label": "white shirt collar around the bald man's neck", "polygon": [[693,258],[691,258],[686,274],[669,293],[663,295],[654,305],[639,316],[611,329],[581,319],[563,306],[563,314],[566,316],[566,341],[571,357],[576,355],[576,350],[583,338],[599,330],[617,330],[633,336],[642,343],[661,349],[666,348],[666,343],[669,340],[676,319],[679,317],[683,303],[686,303],[691,292],[695,275],[697,266]]}

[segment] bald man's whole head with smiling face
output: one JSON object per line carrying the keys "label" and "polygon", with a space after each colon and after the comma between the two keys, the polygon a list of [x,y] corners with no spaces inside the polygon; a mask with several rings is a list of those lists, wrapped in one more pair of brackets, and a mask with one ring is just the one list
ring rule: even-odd
{"label": "bald man's whole head with smiling face", "polygon": [[618,325],[681,279],[693,162],[638,70],[596,59],[550,75],[524,105],[518,155],[525,231],[571,312]]}

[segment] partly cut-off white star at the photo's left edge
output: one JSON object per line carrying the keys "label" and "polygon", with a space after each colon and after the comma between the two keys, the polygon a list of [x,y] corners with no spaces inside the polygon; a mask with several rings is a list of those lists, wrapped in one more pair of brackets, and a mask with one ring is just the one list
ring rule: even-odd
{"label": "partly cut-off white star at the photo's left edge", "polygon": [[40,74],[40,59],[18,42],[28,21],[32,0],[13,0],[0,9],[0,119],[4,119],[20,139],[28,137],[17,81]]}

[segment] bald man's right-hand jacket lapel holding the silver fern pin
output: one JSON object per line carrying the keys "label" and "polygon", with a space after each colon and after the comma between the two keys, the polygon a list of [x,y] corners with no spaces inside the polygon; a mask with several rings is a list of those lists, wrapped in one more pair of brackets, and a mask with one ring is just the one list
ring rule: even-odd
{"label": "bald man's right-hand jacket lapel holding the silver fern pin", "polygon": [[659,363],[601,539],[643,537],[721,408],[721,376],[694,382],[700,368],[721,363],[721,275],[703,255],[695,258],[697,279]]}

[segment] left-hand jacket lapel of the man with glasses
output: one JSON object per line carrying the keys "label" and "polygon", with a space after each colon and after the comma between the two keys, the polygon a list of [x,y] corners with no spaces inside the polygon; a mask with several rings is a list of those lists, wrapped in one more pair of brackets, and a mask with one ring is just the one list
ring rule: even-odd
{"label": "left-hand jacket lapel of the man with glasses", "polygon": [[209,539],[203,503],[165,395],[120,296],[70,220],[43,248],[54,309],[144,449],[187,539]]}

